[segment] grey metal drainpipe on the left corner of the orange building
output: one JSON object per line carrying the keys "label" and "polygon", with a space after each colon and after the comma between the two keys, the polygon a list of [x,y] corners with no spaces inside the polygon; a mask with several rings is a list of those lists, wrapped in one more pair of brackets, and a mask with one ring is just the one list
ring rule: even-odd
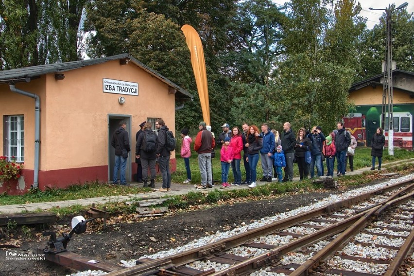
{"label": "grey metal drainpipe on the left corner of the orange building", "polygon": [[17,89],[14,84],[10,84],[10,90],[35,99],[35,171],[33,185],[31,185],[31,188],[37,188],[39,186],[40,98],[34,93]]}

